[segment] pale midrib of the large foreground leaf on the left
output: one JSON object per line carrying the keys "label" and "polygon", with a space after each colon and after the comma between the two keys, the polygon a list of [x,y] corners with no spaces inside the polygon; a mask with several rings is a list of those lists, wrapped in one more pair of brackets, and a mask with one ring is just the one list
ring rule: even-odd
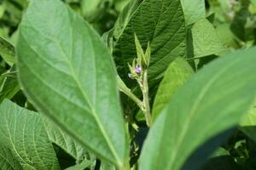
{"label": "pale midrib of the large foreground leaf on the left", "polygon": [[[44,37],[48,38],[49,40],[55,42],[55,43],[57,44],[57,46],[59,47],[61,53],[62,53],[63,56],[64,56],[64,59],[66,60],[66,63],[67,63],[67,65],[68,65],[70,71],[72,72],[72,75],[70,75],[70,76],[73,77],[73,80],[76,82],[76,84],[77,84],[79,90],[82,92],[83,97],[84,97],[84,100],[85,100],[85,102],[89,105],[90,110],[91,110],[91,112],[92,112],[92,116],[95,117],[95,120],[96,120],[98,126],[100,127],[100,130],[101,130],[101,132],[102,132],[102,135],[103,135],[104,139],[106,140],[109,149],[112,151],[112,154],[113,154],[113,156],[115,157],[115,159],[116,159],[116,161],[117,161],[119,167],[121,167],[121,166],[123,165],[123,163],[122,163],[122,161],[119,160],[119,156],[117,155],[116,151],[114,150],[113,144],[111,143],[110,139],[108,138],[108,134],[106,134],[106,131],[104,130],[104,127],[102,126],[102,122],[100,121],[99,117],[97,116],[96,111],[94,110],[94,108],[92,107],[92,104],[90,103],[90,100],[88,99],[88,96],[85,94],[85,92],[84,92],[84,90],[83,90],[83,88],[82,88],[82,86],[81,86],[81,83],[79,82],[78,78],[76,77],[75,72],[74,72],[74,70],[73,70],[73,65],[72,65],[72,63],[70,62],[70,60],[68,59],[67,54],[64,52],[63,48],[61,47],[61,43],[60,43],[59,41],[57,41],[57,40],[52,39],[51,37],[46,36],[43,32],[38,31],[38,29],[37,29],[35,26],[32,25],[32,22],[31,22],[28,18],[27,18],[27,20],[30,22],[31,28],[32,28],[34,31],[37,31],[37,32],[38,32],[39,34],[41,34],[42,36],[44,36]],[[71,22],[70,22],[70,23],[71,23]],[[29,26],[29,27],[30,27],[30,26]],[[71,27],[72,27],[72,26],[71,26]],[[87,29],[89,30],[90,28],[87,28]],[[72,32],[73,32],[73,31],[72,31]],[[73,35],[73,33],[71,33],[71,37],[72,37],[72,40],[73,40],[73,36],[72,36],[72,35]],[[25,37],[24,37],[24,40],[26,40]],[[90,43],[91,43],[91,38],[90,38]],[[91,43],[91,44],[92,44],[92,43]],[[32,46],[31,46],[29,43],[27,43],[27,45],[29,45],[30,48],[32,48]],[[92,46],[92,45],[91,45],[91,46]],[[93,46],[92,46],[92,47],[93,47]],[[72,49],[73,49],[73,48],[72,48]],[[38,54],[35,49],[32,48],[32,50],[34,51],[35,54]],[[73,52],[72,52],[72,54],[73,54]],[[38,55],[40,55],[40,54],[38,54]],[[40,58],[42,58],[42,56],[41,56]],[[43,59],[44,59],[44,58],[43,58]],[[95,57],[94,57],[93,60],[95,61]],[[44,62],[46,62],[46,59],[44,59]],[[49,64],[49,62],[47,62],[47,63]],[[95,63],[95,62],[94,62],[94,63]],[[26,65],[26,64],[25,64],[25,65]],[[96,65],[96,64],[95,64],[95,65]],[[26,66],[27,66],[27,68],[28,68],[30,71],[32,71],[32,69],[29,68],[28,65],[26,65]],[[51,66],[53,66],[53,65],[51,65]],[[53,66],[53,67],[54,67],[54,66]],[[54,67],[54,68],[55,68],[55,67]],[[64,72],[64,71],[61,71],[61,72]],[[33,73],[36,77],[38,77],[38,75],[37,75],[34,71],[32,71],[32,73]],[[67,74],[67,73],[66,73],[66,74]],[[38,79],[40,80],[39,77],[38,77]],[[44,82],[43,80],[40,80],[40,81],[41,81],[41,82]],[[45,84],[45,83],[44,83],[44,84]],[[46,84],[45,84],[45,85],[46,85]],[[26,93],[26,94],[28,94],[28,93]],[[40,100],[40,99],[39,99],[39,100]],[[68,99],[67,99],[67,100],[68,100]],[[76,104],[75,104],[75,105],[76,105]],[[81,109],[84,110],[84,108],[81,108]],[[65,128],[65,129],[66,129],[66,128]],[[72,133],[71,133],[71,134],[72,134]],[[83,143],[83,144],[84,144],[84,143]],[[86,144],[86,145],[87,145],[87,144]],[[91,148],[90,148],[90,149],[91,149]],[[93,150],[93,149],[91,149],[91,150]],[[96,150],[95,150],[95,151],[96,151]]]}

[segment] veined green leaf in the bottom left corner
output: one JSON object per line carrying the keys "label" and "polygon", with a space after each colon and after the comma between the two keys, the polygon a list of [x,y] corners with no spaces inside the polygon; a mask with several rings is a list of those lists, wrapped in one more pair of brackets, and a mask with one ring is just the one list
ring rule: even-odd
{"label": "veined green leaf in the bottom left corner", "polygon": [[0,105],[0,115],[1,155],[8,159],[10,169],[59,169],[55,150],[38,113],[5,99]]}

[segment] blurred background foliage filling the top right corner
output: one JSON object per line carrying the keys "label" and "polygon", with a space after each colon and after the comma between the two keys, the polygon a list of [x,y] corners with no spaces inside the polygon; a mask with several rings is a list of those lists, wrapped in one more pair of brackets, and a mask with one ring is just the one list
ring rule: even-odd
{"label": "blurred background foliage filling the top right corner", "polygon": [[255,0],[207,0],[207,15],[218,37],[229,48],[247,48],[255,44]]}

